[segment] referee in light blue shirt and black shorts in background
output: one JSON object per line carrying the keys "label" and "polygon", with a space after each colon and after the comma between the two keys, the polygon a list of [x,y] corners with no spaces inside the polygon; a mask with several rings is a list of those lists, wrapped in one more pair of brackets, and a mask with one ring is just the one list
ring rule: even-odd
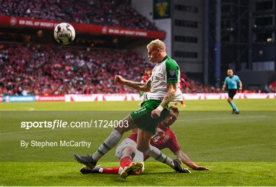
{"label": "referee in light blue shirt and black shorts in background", "polygon": [[224,84],[222,87],[222,91],[224,92],[225,88],[227,86],[227,89],[228,89],[227,101],[232,106],[232,109],[233,109],[232,114],[239,114],[240,112],[239,112],[236,104],[233,102],[233,98],[237,92],[238,84],[239,84],[239,90],[242,90],[242,82],[237,75],[234,75],[234,72],[232,69],[228,69],[227,74],[228,74],[228,76],[225,78],[225,81],[224,81]]}

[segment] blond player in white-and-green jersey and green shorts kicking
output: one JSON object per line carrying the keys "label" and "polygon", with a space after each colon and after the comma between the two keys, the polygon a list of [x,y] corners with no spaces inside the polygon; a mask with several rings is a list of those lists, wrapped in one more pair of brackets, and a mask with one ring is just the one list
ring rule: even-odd
{"label": "blond player in white-and-green jersey and green shorts kicking", "polygon": [[[93,155],[79,156],[74,153],[76,160],[89,169],[93,169],[99,159],[119,143],[124,132],[138,128],[137,150],[167,164],[177,172],[189,173],[189,170],[182,167],[180,158],[173,160],[150,145],[150,138],[156,133],[157,124],[170,115],[168,104],[171,101],[182,99],[182,94],[178,88],[179,66],[166,54],[164,42],[158,39],[153,40],[147,45],[147,49],[149,60],[156,64],[147,83],[128,81],[120,75],[116,75],[114,81],[139,91],[150,92],[145,95],[146,100],[141,104],[141,108],[125,117],[123,127],[115,127]],[[137,168],[135,166],[133,163],[126,170],[133,169],[135,172],[135,168]]]}

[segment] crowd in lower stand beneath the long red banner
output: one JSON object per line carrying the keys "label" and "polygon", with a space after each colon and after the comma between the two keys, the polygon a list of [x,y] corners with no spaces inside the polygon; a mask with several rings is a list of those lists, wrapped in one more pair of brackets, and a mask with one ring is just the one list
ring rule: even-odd
{"label": "crowd in lower stand beneath the long red banner", "polygon": [[[153,65],[134,51],[54,45],[2,43],[0,94],[62,95],[138,93],[114,83],[114,75],[141,82]],[[186,93],[219,92],[181,73],[189,85]]]}

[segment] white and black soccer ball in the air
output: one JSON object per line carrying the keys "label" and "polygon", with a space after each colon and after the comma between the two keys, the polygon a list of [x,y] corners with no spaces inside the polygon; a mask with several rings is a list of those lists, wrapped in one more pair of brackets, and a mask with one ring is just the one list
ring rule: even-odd
{"label": "white and black soccer ball in the air", "polygon": [[62,45],[67,45],[73,42],[75,36],[75,29],[69,23],[59,23],[54,30],[56,41]]}

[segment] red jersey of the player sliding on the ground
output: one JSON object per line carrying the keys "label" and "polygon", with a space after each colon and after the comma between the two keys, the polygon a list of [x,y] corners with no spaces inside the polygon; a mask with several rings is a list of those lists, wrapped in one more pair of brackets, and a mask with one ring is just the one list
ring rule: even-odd
{"label": "red jersey of the player sliding on the ground", "polygon": [[[153,135],[150,139],[150,144],[159,150],[169,148],[173,153],[180,150],[176,136],[170,127],[164,128],[161,123],[158,123],[158,128],[165,132],[165,136],[159,137],[157,134]],[[132,133],[128,138],[137,143],[137,133]],[[144,161],[149,157],[149,155],[144,155]]]}

